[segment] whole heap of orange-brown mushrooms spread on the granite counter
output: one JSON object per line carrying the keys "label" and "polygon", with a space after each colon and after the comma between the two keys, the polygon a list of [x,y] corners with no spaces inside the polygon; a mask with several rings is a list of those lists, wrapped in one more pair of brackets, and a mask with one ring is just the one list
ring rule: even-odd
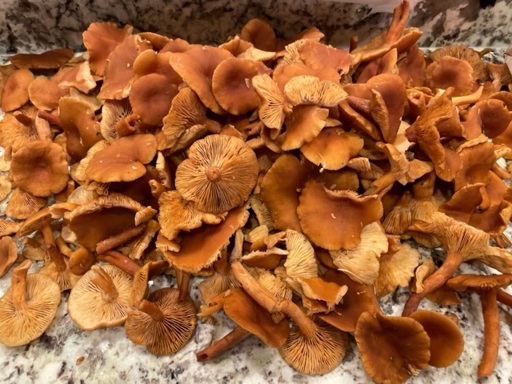
{"label": "whole heap of orange-brown mushrooms spread on the granite counter", "polygon": [[[444,313],[472,290],[478,376],[492,374],[498,302],[512,305],[512,65],[425,54],[408,15],[405,0],[349,50],[254,19],[219,47],[97,22],[81,56],[14,55],[0,68],[0,274],[18,264],[0,342],[38,338],[71,290],[78,327],[124,325],[153,354],[223,311],[235,327],[200,361],[255,335],[318,375],[353,337],[375,382],[400,383],[463,353]],[[459,274],[465,262],[489,268]],[[176,286],[149,292],[161,274]],[[402,316],[383,313],[399,288]]]}

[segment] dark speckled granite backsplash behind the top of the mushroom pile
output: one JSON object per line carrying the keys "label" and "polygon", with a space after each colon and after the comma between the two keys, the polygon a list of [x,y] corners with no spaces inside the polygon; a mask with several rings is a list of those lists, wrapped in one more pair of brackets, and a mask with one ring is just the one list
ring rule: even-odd
{"label": "dark speckled granite backsplash behind the top of the mushroom pile", "polygon": [[[98,20],[131,24],[140,31],[220,43],[253,17],[269,21],[289,37],[316,26],[333,45],[346,46],[383,31],[398,0],[2,0],[0,53],[69,47],[83,50],[81,34]],[[505,46],[511,43],[512,0],[411,0],[410,25],[424,30],[423,46],[463,43]],[[493,4],[494,6],[486,6]]]}

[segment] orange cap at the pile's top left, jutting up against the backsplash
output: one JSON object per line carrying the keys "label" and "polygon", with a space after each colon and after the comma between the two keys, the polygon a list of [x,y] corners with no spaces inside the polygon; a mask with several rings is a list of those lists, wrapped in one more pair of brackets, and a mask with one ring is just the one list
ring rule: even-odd
{"label": "orange cap at the pile's top left, jutting up against the backsplash", "polygon": [[119,28],[115,23],[95,22],[89,24],[82,36],[89,54],[91,70],[96,75],[103,76],[105,74],[108,56],[132,33],[132,30],[131,25]]}

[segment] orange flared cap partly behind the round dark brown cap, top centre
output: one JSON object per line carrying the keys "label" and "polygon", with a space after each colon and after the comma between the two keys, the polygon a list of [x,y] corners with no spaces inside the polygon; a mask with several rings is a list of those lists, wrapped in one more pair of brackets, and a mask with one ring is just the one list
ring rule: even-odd
{"label": "orange flared cap partly behind the round dark brown cap, top centre", "polygon": [[208,109],[222,114],[224,110],[213,95],[212,76],[217,65],[230,57],[233,55],[225,49],[190,45],[185,52],[171,53],[169,62]]}

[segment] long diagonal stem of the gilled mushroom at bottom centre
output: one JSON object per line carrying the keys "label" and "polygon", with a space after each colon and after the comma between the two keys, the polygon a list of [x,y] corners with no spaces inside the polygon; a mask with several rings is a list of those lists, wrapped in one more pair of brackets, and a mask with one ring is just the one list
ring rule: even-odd
{"label": "long diagonal stem of the gilled mushroom at bottom centre", "polygon": [[299,327],[306,338],[313,338],[315,336],[317,330],[315,323],[291,300],[276,298],[263,288],[239,261],[233,262],[231,269],[244,290],[259,305],[270,313],[282,312],[287,315]]}

